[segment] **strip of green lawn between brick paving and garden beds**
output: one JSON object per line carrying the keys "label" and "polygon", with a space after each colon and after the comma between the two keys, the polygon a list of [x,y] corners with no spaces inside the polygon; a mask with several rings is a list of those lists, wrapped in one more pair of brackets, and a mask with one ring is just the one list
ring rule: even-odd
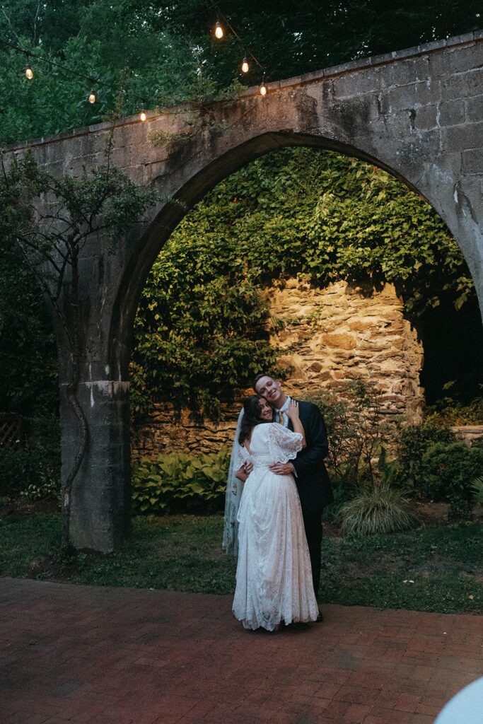
{"label": "strip of green lawn between brick paving and garden beds", "polygon": [[[220,515],[135,518],[130,543],[111,555],[60,551],[60,517],[0,520],[0,575],[94,586],[232,594],[235,561],[221,548]],[[483,612],[483,525],[324,539],[323,603]],[[405,583],[406,581],[406,583]]]}

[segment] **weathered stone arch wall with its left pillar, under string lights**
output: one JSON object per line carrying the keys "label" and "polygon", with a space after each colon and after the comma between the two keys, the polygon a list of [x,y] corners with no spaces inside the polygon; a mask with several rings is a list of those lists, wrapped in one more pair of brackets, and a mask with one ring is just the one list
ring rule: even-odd
{"label": "weathered stone arch wall with its left pillar, under string lights", "polygon": [[[327,68],[257,88],[203,113],[188,107],[122,119],[113,162],[166,197],[142,232],[119,251],[86,246],[80,266],[84,358],[79,398],[90,445],[72,489],[70,539],[109,551],[128,531],[130,499],[128,364],[133,319],[151,265],[187,209],[217,182],[263,153],[314,146],[348,153],[394,174],[448,224],[483,309],[483,32]],[[30,148],[55,174],[104,161],[110,125],[10,148]],[[155,145],[153,132],[167,143]],[[59,340],[61,386],[69,359]],[[62,351],[64,350],[64,351]],[[61,396],[62,397],[62,396]],[[62,469],[79,432],[61,401]]]}

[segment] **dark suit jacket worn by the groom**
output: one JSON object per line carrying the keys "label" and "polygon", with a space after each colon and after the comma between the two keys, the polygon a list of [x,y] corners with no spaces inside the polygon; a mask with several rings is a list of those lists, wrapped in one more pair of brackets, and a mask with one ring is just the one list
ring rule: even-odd
{"label": "dark suit jacket worn by the groom", "polygon": [[[299,402],[298,410],[306,434],[307,447],[292,460],[295,483],[302,505],[307,510],[320,510],[332,500],[332,487],[324,465],[329,452],[327,429],[319,408],[313,403]],[[293,430],[289,420],[288,428]]]}

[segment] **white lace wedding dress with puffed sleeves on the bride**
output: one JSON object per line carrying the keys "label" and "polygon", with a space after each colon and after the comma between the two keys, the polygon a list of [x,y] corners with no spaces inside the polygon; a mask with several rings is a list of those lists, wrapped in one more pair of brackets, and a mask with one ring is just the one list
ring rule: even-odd
{"label": "white lace wedding dress with puffed sleeves on the bride", "polygon": [[271,463],[287,463],[302,449],[302,436],[278,423],[253,429],[250,452],[240,464],[253,471],[238,510],[238,567],[233,613],[245,628],[273,631],[280,621],[314,621],[319,613],[301,503],[292,475],[275,475]]}

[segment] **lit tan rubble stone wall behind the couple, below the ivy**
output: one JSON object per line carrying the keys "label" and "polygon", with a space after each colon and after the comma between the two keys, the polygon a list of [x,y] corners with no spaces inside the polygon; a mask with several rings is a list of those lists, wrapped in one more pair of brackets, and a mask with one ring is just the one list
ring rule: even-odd
{"label": "lit tan rubble stone wall behind the couple, below the ivy", "polygon": [[[343,393],[355,379],[370,380],[379,392],[385,422],[421,421],[423,349],[392,285],[374,290],[337,282],[321,289],[290,279],[263,293],[272,317],[270,339],[287,371],[287,392],[306,397],[330,387]],[[133,458],[217,452],[232,444],[239,411],[239,401],[224,405],[215,424],[194,421],[188,411],[176,418],[172,405],[159,405],[133,436]]]}

